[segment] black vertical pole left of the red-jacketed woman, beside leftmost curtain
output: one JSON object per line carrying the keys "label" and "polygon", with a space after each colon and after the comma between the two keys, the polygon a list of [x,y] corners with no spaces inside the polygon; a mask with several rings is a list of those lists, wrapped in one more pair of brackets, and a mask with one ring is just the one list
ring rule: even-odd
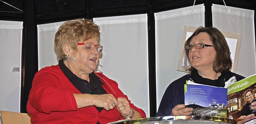
{"label": "black vertical pole left of the red-jacketed woman, beside leftmost curtain", "polygon": [[[38,71],[37,31],[35,1],[24,0],[22,41],[22,85],[20,112],[27,113],[28,95],[35,73]],[[29,7],[28,7],[29,6]]]}

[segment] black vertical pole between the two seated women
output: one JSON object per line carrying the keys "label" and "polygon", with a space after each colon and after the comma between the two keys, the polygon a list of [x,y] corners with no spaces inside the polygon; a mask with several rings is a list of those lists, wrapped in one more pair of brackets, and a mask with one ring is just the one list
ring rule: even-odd
{"label": "black vertical pole between the two seated women", "polygon": [[156,116],[156,40],[154,0],[148,0],[148,69],[150,117]]}

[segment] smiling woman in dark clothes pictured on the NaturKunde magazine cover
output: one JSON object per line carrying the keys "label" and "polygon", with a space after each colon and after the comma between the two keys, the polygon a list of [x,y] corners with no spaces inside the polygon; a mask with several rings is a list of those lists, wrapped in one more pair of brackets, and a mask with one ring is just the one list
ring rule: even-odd
{"label": "smiling woman in dark clothes pictured on the NaturKunde magazine cover", "polygon": [[256,101],[253,99],[253,96],[254,94],[251,89],[245,91],[244,99],[247,101],[247,103],[242,108],[242,116],[239,118],[239,120],[247,119],[256,115],[256,110],[252,110],[250,108],[251,103]]}

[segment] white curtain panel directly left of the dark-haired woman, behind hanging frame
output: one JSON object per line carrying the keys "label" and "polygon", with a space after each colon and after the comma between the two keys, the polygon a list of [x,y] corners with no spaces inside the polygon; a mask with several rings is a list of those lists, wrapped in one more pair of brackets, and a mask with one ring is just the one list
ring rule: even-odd
{"label": "white curtain panel directly left of the dark-haired woman, behind hanging frame", "polygon": [[[157,109],[168,85],[186,74],[177,71],[177,66],[184,26],[188,25],[192,8],[155,13]],[[204,26],[203,4],[194,6],[189,26]]]}

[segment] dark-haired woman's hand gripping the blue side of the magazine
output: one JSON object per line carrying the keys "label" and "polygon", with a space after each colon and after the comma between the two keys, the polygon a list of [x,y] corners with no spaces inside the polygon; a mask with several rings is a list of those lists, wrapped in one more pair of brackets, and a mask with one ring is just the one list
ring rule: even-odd
{"label": "dark-haired woman's hand gripping the blue side of the magazine", "polygon": [[181,116],[192,114],[193,108],[185,108],[185,104],[178,104],[172,108],[171,116]]}

